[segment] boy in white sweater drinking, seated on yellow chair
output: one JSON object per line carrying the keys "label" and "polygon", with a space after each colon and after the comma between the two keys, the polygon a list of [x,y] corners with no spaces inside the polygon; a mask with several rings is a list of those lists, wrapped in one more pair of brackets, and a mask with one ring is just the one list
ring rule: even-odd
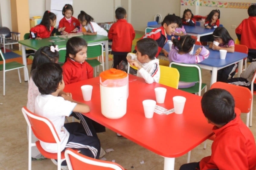
{"label": "boy in white sweater drinking, seated on yellow chair", "polygon": [[151,38],[144,38],[137,41],[136,54],[128,53],[126,59],[138,68],[137,76],[145,79],[145,82],[151,84],[159,82],[160,67],[159,59],[156,59],[157,42]]}

